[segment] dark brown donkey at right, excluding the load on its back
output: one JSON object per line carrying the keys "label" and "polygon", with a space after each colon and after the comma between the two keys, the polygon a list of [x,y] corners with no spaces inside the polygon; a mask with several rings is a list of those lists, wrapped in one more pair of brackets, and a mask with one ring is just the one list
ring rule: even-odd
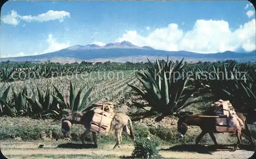
{"label": "dark brown donkey at right, excluding the load on its back", "polygon": [[[178,115],[179,116],[179,120],[178,120],[178,136],[180,138],[183,137],[183,135],[185,135],[187,129],[188,129],[188,125],[195,125],[195,126],[199,126],[202,130],[202,132],[199,134],[199,136],[196,139],[196,145],[198,145],[198,143],[200,142],[200,140],[202,139],[202,137],[206,134],[209,133],[211,139],[214,141],[214,144],[217,146],[217,141],[216,138],[214,136],[214,133],[223,133],[223,132],[218,132],[216,131],[216,117],[214,116],[208,116],[208,117],[204,117],[204,116],[200,116],[200,115],[188,115],[187,113],[185,113],[185,115]],[[234,145],[234,148],[232,149],[232,151],[236,151],[239,144],[241,143],[241,132],[243,132],[244,134],[246,134],[249,138],[251,143],[254,145],[254,142],[252,140],[251,137],[251,133],[248,129],[248,125],[246,122],[246,118],[244,117],[244,115],[240,112],[237,112],[237,116],[243,121],[245,128],[242,127],[240,130],[236,130],[236,136],[238,139],[237,144]],[[226,131],[228,132],[228,131]],[[229,133],[233,133],[233,132],[229,132]]]}

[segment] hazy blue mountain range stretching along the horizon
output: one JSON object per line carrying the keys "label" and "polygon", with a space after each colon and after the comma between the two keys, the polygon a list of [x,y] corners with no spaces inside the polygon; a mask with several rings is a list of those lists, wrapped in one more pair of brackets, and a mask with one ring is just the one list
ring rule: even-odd
{"label": "hazy blue mountain range stretching along the horizon", "polygon": [[185,61],[223,61],[223,60],[237,60],[237,61],[255,61],[256,51],[249,53],[236,53],[225,51],[223,53],[215,54],[199,54],[187,51],[163,51],[156,50],[151,47],[138,47],[129,41],[114,42],[105,44],[105,46],[98,46],[97,44],[88,44],[86,46],[75,45],[66,49],[62,49],[52,53],[2,58],[2,61],[47,61],[53,62],[74,62],[74,61],[115,61],[115,62],[141,62],[157,59],[166,59],[167,55],[170,59]]}

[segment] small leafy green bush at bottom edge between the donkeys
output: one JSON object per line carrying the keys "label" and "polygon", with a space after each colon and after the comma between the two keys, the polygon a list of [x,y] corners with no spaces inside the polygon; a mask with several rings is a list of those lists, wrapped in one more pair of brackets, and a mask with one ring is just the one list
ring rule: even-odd
{"label": "small leafy green bush at bottom edge between the donkeys", "polygon": [[134,158],[159,158],[160,143],[154,138],[139,138],[134,143],[132,157]]}

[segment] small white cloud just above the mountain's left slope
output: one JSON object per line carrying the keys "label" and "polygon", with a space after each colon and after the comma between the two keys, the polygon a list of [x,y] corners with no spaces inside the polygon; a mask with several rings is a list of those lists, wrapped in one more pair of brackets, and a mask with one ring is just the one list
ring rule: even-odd
{"label": "small white cloud just above the mountain's left slope", "polygon": [[57,42],[52,34],[48,35],[47,42],[49,44],[49,47],[46,50],[40,52],[39,54],[51,53],[70,47],[69,41],[67,43]]}

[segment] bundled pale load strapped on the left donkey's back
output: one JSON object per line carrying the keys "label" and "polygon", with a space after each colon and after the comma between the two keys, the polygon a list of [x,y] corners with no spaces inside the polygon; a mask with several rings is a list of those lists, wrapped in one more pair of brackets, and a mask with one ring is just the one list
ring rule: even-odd
{"label": "bundled pale load strapped on the left donkey's back", "polygon": [[[94,116],[91,122],[91,131],[107,135],[111,128],[111,123],[114,118],[114,110],[112,103],[96,104],[94,109]],[[109,110],[105,111],[104,108],[108,107]]]}

